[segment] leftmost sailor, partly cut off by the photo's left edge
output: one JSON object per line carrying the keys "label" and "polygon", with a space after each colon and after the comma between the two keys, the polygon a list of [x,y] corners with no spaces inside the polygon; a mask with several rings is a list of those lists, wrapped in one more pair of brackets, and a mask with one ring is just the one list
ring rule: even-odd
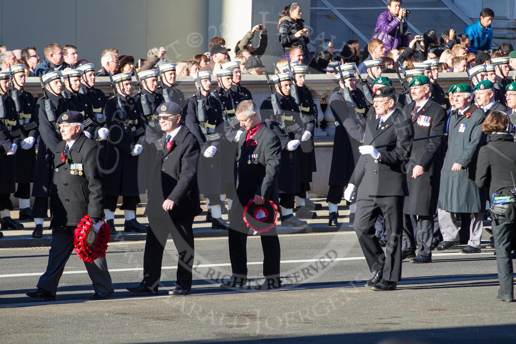
{"label": "leftmost sailor, partly cut off by the photo's left edge", "polygon": [[[20,148],[20,122],[14,101],[9,97],[8,70],[0,72],[0,224],[3,230],[21,230],[23,224],[11,218],[14,209],[10,200],[16,183],[16,152]],[[3,235],[0,235],[2,237]]]}

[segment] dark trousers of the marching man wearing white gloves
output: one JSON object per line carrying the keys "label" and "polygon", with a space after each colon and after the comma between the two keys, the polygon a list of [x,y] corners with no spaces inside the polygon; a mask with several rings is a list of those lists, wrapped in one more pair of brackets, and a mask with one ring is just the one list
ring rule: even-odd
{"label": "dark trousers of the marching man wearing white gloves", "polygon": [[[403,201],[403,196],[368,197],[359,195],[353,223],[370,271],[383,269],[383,278],[392,282],[401,279]],[[385,253],[376,238],[374,228],[380,210],[385,218],[387,235]]]}

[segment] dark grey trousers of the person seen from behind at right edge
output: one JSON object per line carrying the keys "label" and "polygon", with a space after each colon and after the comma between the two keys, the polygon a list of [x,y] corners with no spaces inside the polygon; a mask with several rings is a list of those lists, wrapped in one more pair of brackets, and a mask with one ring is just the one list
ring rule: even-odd
{"label": "dark grey trousers of the person seen from behind at right edge", "polygon": [[507,221],[505,216],[493,214],[492,229],[496,249],[498,281],[500,282],[498,299],[513,299],[511,242],[516,226],[514,223]]}

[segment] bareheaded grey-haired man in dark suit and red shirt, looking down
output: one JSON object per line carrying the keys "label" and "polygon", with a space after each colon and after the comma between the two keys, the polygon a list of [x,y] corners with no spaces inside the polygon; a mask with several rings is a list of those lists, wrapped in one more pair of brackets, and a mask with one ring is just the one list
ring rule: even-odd
{"label": "bareheaded grey-haired man in dark suit and red shirt, looking down", "polygon": [[[229,228],[229,255],[231,279],[223,288],[247,284],[247,234],[249,228],[243,219],[244,207],[250,200],[261,205],[268,200],[278,204],[278,176],[281,165],[281,142],[278,136],[262,122],[252,101],[243,101],[236,108],[240,125],[247,130],[238,146],[237,184],[231,207]],[[261,233],[264,254],[263,289],[279,288],[280,240],[276,226]]]}

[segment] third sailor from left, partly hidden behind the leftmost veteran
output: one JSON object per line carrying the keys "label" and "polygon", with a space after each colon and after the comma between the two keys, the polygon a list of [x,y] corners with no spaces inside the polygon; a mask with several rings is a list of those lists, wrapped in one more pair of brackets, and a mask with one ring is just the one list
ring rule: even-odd
{"label": "third sailor from left, partly hidden behind the leftmost veteran", "polygon": [[[43,219],[47,217],[52,176],[54,174],[54,148],[62,141],[57,119],[65,111],[75,110],[75,106],[61,95],[63,88],[61,71],[50,72],[41,77],[45,86],[45,96],[36,102],[36,123],[40,135],[38,154],[36,156],[36,171],[32,195],[34,196],[33,218],[36,228],[35,235],[43,233]],[[46,103],[46,104],[45,104]],[[47,106],[49,105],[49,106]],[[46,108],[49,108],[49,111]]]}

